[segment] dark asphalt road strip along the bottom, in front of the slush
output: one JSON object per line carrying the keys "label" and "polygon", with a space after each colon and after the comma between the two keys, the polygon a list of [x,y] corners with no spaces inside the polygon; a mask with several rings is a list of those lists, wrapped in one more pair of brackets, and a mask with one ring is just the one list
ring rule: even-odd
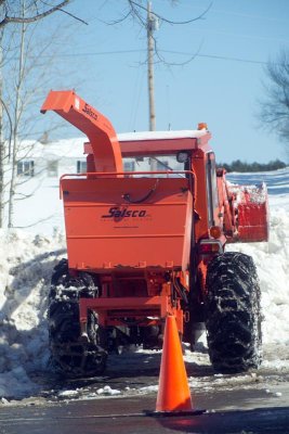
{"label": "dark asphalt road strip along the bottom, in front of the slush", "polygon": [[[147,416],[155,406],[155,396],[103,398],[62,401],[0,409],[1,434],[143,434],[143,433],[289,433],[289,407],[265,407],[222,410],[222,403],[259,404],[262,396],[242,391],[196,395],[196,406],[219,407],[200,416]],[[246,406],[245,406],[246,407]]]}

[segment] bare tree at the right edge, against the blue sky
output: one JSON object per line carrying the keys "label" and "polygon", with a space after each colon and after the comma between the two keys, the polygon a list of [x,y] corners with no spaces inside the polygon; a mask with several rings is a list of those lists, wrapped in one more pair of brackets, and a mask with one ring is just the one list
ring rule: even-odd
{"label": "bare tree at the right edge, against the blue sky", "polygon": [[265,129],[285,142],[289,157],[289,51],[281,50],[276,61],[268,62],[265,74],[259,117]]}

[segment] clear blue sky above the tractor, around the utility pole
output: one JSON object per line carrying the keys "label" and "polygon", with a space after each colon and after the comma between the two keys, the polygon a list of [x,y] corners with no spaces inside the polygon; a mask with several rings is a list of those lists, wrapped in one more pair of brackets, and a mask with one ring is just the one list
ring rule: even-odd
{"label": "clear blue sky above the tractor, around the utility pole", "polygon": [[[210,3],[153,0],[153,9],[186,21]],[[105,24],[128,11],[126,0],[75,0],[66,10],[89,25],[74,22],[74,35],[65,38],[57,88],[74,87],[118,132],[147,130],[146,33],[132,20]],[[194,129],[207,122],[219,161],[286,158],[277,135],[259,128],[257,113],[265,63],[289,46],[289,1],[212,0],[202,20],[178,26],[160,22],[155,37],[168,64],[198,53],[183,66],[156,63],[157,130]]]}

